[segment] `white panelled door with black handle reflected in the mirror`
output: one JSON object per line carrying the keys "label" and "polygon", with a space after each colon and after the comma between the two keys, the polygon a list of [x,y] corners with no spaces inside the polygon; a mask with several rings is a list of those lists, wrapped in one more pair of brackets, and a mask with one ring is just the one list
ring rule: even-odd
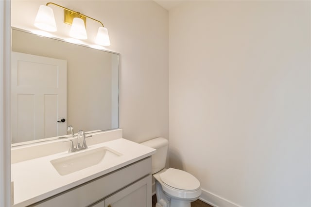
{"label": "white panelled door with black handle reflected in the mirror", "polygon": [[12,143],[66,134],[67,61],[12,52]]}

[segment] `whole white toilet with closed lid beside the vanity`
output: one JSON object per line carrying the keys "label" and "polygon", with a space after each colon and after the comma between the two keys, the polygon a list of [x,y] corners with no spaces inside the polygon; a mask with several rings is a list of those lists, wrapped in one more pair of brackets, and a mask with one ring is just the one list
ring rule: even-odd
{"label": "whole white toilet with closed lid beside the vanity", "polygon": [[190,173],[174,168],[164,169],[169,142],[155,138],[141,143],[156,149],[152,155],[157,203],[155,207],[190,207],[201,195],[200,182]]}

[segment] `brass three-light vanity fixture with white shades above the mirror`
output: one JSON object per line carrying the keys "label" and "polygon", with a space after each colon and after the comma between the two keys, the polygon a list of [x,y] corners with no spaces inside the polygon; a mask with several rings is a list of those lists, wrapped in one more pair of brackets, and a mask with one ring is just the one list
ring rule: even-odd
{"label": "brass three-light vanity fixture with white shades above the mirror", "polygon": [[34,23],[37,28],[48,32],[57,31],[53,10],[48,6],[49,4],[64,9],[64,22],[71,25],[69,32],[70,37],[87,39],[86,18],[89,18],[101,24],[101,27],[98,28],[95,43],[102,46],[110,45],[108,30],[101,21],[52,2],[48,2],[46,5],[41,5],[39,7]]}

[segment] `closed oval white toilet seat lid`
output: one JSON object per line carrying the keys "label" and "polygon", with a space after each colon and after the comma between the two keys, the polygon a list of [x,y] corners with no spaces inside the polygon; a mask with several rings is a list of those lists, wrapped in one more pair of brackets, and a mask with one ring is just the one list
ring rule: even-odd
{"label": "closed oval white toilet seat lid", "polygon": [[159,175],[164,184],[182,191],[196,191],[200,188],[199,180],[182,170],[169,168]]}

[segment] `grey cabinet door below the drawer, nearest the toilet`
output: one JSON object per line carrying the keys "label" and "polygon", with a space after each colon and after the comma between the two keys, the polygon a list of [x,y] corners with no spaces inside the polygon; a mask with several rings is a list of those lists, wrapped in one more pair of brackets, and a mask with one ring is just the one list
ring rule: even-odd
{"label": "grey cabinet door below the drawer, nearest the toilet", "polygon": [[105,198],[105,207],[152,207],[151,175]]}

